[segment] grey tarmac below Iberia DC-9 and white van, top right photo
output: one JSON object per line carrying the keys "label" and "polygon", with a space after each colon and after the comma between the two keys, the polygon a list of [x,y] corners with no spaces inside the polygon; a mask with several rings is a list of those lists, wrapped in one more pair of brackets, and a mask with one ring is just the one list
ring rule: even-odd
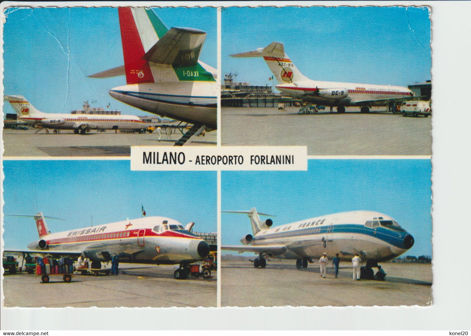
{"label": "grey tarmac below Iberia DC-9 and white van, top right photo", "polygon": [[[403,117],[386,107],[361,114],[298,114],[299,108],[222,108],[224,146],[308,146],[308,155],[431,155],[431,117]],[[335,109],[334,109],[335,111]],[[356,113],[351,113],[355,111]]]}

